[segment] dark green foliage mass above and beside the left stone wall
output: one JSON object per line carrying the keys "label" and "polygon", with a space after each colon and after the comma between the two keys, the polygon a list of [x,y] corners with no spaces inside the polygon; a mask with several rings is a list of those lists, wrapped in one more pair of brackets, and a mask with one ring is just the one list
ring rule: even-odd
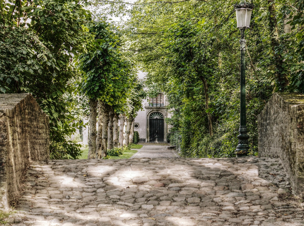
{"label": "dark green foliage mass above and beside the left stone wall", "polygon": [[79,146],[66,140],[77,126],[63,95],[79,76],[73,56],[90,48],[90,13],[67,0],[0,0],[0,7],[0,92],[31,93],[50,117],[50,140],[77,157]]}

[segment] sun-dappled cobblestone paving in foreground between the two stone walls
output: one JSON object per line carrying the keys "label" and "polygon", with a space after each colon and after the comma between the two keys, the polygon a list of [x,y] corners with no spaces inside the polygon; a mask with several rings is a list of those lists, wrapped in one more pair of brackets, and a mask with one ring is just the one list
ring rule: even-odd
{"label": "sun-dappled cobblestone paving in foreground between the two stone walls", "polygon": [[275,158],[35,162],[13,225],[304,225]]}

